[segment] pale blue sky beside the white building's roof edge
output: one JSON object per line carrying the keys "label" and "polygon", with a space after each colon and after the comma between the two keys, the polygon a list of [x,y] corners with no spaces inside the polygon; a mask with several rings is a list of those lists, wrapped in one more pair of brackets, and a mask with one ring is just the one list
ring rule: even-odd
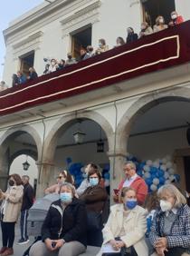
{"label": "pale blue sky beside the white building's roof edge", "polygon": [[3,30],[16,17],[23,15],[44,0],[2,0],[0,13],[0,81],[2,80],[5,60],[5,42]]}

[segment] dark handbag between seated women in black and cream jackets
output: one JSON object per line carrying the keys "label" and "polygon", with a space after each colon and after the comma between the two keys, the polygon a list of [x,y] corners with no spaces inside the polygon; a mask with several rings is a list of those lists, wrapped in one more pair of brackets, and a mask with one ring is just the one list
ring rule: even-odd
{"label": "dark handbag between seated women in black and cream jackets", "polygon": [[87,212],[87,230],[99,231],[102,228],[101,212]]}

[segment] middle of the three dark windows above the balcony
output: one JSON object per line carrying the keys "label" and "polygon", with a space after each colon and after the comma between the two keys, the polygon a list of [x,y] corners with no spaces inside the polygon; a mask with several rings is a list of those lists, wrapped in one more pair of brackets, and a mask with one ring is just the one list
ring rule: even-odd
{"label": "middle of the three dark windows above the balcony", "polygon": [[81,47],[86,48],[91,44],[91,25],[83,27],[71,34],[71,53],[75,58],[80,57]]}

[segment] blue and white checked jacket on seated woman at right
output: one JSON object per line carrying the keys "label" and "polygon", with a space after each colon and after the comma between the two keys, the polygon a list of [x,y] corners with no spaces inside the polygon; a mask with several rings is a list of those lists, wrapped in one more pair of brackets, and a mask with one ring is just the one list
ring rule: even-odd
{"label": "blue and white checked jacket on seated woman at right", "polygon": [[[164,214],[165,212],[157,211],[153,219],[149,240],[153,246],[159,237],[164,237]],[[170,234],[166,236],[167,247],[190,248],[190,208],[187,204],[182,205],[176,212],[176,220],[172,225]]]}

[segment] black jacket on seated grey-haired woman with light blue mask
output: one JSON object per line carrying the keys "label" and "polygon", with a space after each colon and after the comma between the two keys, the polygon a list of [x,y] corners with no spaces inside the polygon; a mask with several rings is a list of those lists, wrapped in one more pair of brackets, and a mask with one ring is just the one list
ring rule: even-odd
{"label": "black jacket on seated grey-haired woman with light blue mask", "polygon": [[61,200],[52,202],[42,227],[42,240],[63,239],[87,244],[87,214],[84,202],[74,198],[62,215]]}

